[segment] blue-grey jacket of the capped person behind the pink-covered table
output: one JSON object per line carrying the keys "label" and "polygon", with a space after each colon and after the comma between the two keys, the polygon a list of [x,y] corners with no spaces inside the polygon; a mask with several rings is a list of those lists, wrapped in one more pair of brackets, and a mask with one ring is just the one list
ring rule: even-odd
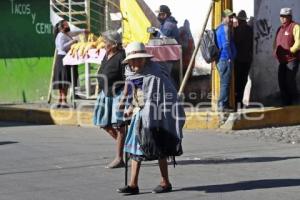
{"label": "blue-grey jacket of the capped person behind the pink-covered table", "polygon": [[164,36],[175,38],[179,41],[179,30],[177,27],[177,21],[174,17],[170,16],[160,24],[160,31]]}

